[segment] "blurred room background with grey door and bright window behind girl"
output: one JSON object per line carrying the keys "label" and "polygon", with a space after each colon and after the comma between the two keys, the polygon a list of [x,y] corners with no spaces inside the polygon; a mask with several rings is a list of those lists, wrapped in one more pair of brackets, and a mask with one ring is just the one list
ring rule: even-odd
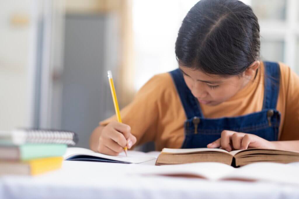
{"label": "blurred room background with grey door and bright window behind girl", "polygon": [[[107,70],[120,107],[153,75],[178,65],[181,21],[198,0],[0,0],[0,130],[77,132],[88,148],[113,115]],[[261,58],[299,73],[299,2],[244,0],[261,27]]]}

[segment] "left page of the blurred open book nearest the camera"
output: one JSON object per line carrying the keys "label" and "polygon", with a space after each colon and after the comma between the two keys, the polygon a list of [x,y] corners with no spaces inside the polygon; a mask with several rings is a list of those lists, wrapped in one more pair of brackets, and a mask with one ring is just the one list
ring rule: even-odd
{"label": "left page of the blurred open book nearest the camera", "polygon": [[193,176],[217,180],[235,168],[223,163],[202,162],[188,164],[172,164],[162,166],[139,167],[129,174],[132,175],[169,175],[169,176]]}

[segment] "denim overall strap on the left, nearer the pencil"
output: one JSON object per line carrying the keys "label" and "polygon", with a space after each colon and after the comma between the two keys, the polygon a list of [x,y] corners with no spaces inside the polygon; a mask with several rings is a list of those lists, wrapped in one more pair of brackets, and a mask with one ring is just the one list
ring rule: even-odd
{"label": "denim overall strap on the left, nearer the pencil", "polygon": [[193,118],[195,116],[202,117],[203,115],[200,110],[199,102],[187,87],[182,72],[179,69],[176,69],[170,71],[169,73],[174,81],[174,84],[176,85],[176,90],[181,99],[187,119]]}

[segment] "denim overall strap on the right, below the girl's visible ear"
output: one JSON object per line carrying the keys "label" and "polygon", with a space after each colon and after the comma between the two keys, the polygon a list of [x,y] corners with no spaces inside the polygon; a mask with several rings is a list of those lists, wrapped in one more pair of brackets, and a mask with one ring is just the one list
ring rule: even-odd
{"label": "denim overall strap on the right, below the girl's visible ear", "polygon": [[264,62],[265,93],[263,109],[276,109],[279,95],[280,67],[275,62]]}

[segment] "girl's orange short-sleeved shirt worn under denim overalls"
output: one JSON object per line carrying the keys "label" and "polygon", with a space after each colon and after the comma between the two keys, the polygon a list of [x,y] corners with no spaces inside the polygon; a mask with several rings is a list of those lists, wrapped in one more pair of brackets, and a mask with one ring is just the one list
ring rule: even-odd
{"label": "girl's orange short-sleeved shirt worn under denim overalls", "polygon": [[[235,117],[262,110],[264,65],[257,77],[236,95],[216,106],[200,104],[205,118]],[[276,109],[281,113],[279,140],[299,140],[299,77],[280,63],[280,88]],[[169,73],[152,77],[134,100],[120,111],[124,124],[131,127],[138,144],[155,141],[156,150],[180,148],[184,141],[186,115]],[[112,116],[100,125],[117,120]]]}

